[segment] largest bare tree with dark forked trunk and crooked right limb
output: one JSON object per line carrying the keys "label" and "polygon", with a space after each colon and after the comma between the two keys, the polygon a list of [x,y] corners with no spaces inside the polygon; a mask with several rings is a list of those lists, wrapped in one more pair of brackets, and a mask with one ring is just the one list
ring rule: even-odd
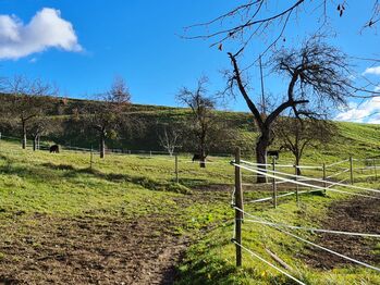
{"label": "largest bare tree with dark forked trunk and crooked right limb", "polygon": [[[273,71],[285,75],[289,85],[282,102],[262,116],[258,103],[248,94],[236,57],[232,53],[229,55],[233,73],[229,77],[228,89],[234,92],[237,87],[254,115],[260,132],[256,144],[256,159],[260,164],[266,163],[267,148],[274,138],[272,125],[285,110],[293,110],[297,119],[322,117],[326,115],[323,110],[344,104],[346,98],[356,91],[348,76],[350,65],[345,54],[312,39],[306,41],[299,50],[281,50],[272,58]],[[265,166],[261,168],[265,171]],[[258,175],[257,181],[265,182],[265,177]]]}

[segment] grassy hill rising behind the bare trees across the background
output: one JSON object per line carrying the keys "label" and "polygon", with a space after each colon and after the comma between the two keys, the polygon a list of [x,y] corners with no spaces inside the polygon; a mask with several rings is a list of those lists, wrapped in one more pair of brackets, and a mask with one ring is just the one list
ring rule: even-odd
{"label": "grassy hill rising behind the bare trees across the background", "polygon": [[[0,95],[0,103],[9,100],[8,95]],[[51,100],[51,108],[48,115],[57,125],[57,132],[42,137],[42,140],[54,141],[64,146],[76,146],[97,148],[98,138],[93,129],[83,129],[77,121],[72,120],[72,115],[86,106],[99,104],[99,101],[82,99],[46,98]],[[257,137],[256,126],[253,116],[245,112],[217,111],[217,116],[238,132],[236,133],[235,144],[221,146],[213,149],[213,153],[231,153],[235,146],[240,146],[245,154],[253,156],[255,140]],[[108,139],[109,148],[123,148],[128,150],[162,151],[159,145],[160,124],[183,122],[189,117],[189,110],[185,108],[173,108],[163,106],[133,104],[130,109],[130,115],[139,122],[142,126],[121,132],[120,138]],[[380,156],[380,125],[341,123],[336,122],[338,133],[332,142],[317,150],[310,150],[305,153],[305,159],[314,159],[318,162],[328,160],[329,156],[347,158],[355,157],[376,157]],[[20,129],[16,125],[9,126],[0,120],[0,132],[2,135],[20,137]],[[279,148],[274,141],[272,149]],[[182,151],[191,152],[191,149],[183,148]],[[289,154],[284,153],[291,159]]]}

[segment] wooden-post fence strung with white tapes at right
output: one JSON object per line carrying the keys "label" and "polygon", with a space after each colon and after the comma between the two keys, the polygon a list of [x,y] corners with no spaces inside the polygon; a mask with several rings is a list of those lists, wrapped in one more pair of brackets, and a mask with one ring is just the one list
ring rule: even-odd
{"label": "wooden-post fence strung with white tapes at right", "polygon": [[[346,236],[356,236],[360,238],[379,238],[380,234],[378,233],[357,233],[352,231],[334,231],[334,230],[327,230],[327,228],[315,228],[315,227],[308,227],[308,226],[302,226],[302,225],[291,225],[291,224],[284,224],[277,221],[269,221],[266,219],[262,219],[258,215],[255,215],[254,213],[248,212],[245,210],[245,205],[250,202],[263,202],[263,201],[272,201],[273,207],[275,208],[278,205],[278,199],[281,199],[286,196],[295,195],[297,198],[297,201],[299,201],[299,197],[303,194],[309,194],[314,191],[319,193],[338,193],[341,195],[350,195],[350,196],[358,196],[358,197],[365,197],[367,199],[373,199],[373,201],[379,202],[380,201],[380,190],[379,189],[371,189],[360,186],[355,186],[352,184],[345,184],[343,183],[344,179],[341,181],[332,181],[332,178],[335,178],[340,175],[346,176],[346,174],[350,174],[350,179],[353,183],[354,178],[353,175],[357,171],[361,171],[360,169],[354,168],[354,162],[366,164],[366,170],[368,169],[368,161],[367,160],[354,160],[348,159],[340,162],[335,162],[329,165],[321,165],[318,166],[318,170],[322,172],[322,178],[316,178],[305,175],[299,175],[297,171],[294,173],[291,173],[290,171],[280,171],[278,170],[279,165],[275,165],[275,162],[272,163],[272,169],[262,170],[262,164],[257,164],[254,162],[245,161],[241,159],[241,152],[240,149],[236,150],[235,153],[235,160],[231,162],[231,164],[234,166],[234,173],[235,173],[235,187],[233,191],[233,200],[232,200],[232,208],[235,210],[235,219],[234,219],[234,235],[232,238],[232,243],[235,245],[235,258],[236,258],[236,267],[242,267],[243,263],[243,251],[246,251],[249,253],[249,256],[254,259],[257,259],[263,263],[266,263],[268,267],[279,271],[280,273],[287,276],[290,280],[296,282],[297,284],[305,284],[302,280],[299,272],[290,272],[290,267],[280,258],[278,258],[274,253],[271,255],[271,257],[278,261],[282,265],[278,267],[277,264],[271,263],[270,261],[262,258],[260,255],[255,252],[254,250],[249,249],[248,246],[243,243],[243,235],[242,235],[242,227],[243,222],[245,223],[254,223],[254,224],[260,224],[263,226],[268,226],[273,228],[274,231],[278,231],[284,235],[287,235],[301,243],[306,244],[308,247],[317,248],[318,250],[322,250],[326,252],[329,252],[330,255],[338,256],[342,259],[345,259],[347,261],[351,261],[353,263],[356,263],[358,265],[365,267],[367,269],[380,272],[380,268],[371,265],[369,263],[363,262],[360,260],[351,258],[344,252],[338,252],[331,248],[327,248],[324,246],[318,245],[317,243],[310,241],[307,238],[302,237],[298,234],[295,234],[294,231],[303,231],[303,232],[310,232],[310,233],[329,233],[332,235],[346,235]],[[370,160],[371,163],[373,163],[373,160]],[[376,165],[376,162],[375,162]],[[371,168],[371,171],[376,170],[375,165],[369,165]],[[266,165],[269,166],[269,165]],[[278,166],[278,168],[275,168]],[[291,165],[281,165],[282,168],[289,170]],[[310,166],[310,170],[314,170],[314,168],[317,166]],[[293,166],[294,169],[294,166]],[[304,169],[309,169],[309,166],[305,166]],[[339,171],[334,174],[329,174],[331,171]],[[252,173],[254,175],[262,175],[267,177],[268,179],[271,179],[272,185],[272,196],[271,197],[263,197],[254,201],[244,201],[244,191],[243,191],[243,182],[242,182],[242,173],[243,171]],[[346,179],[346,178],[345,178]],[[277,186],[281,183],[286,183],[289,185],[293,185],[295,187],[295,191],[290,191],[283,195],[278,195],[277,193]],[[304,190],[299,190],[304,189]]]}

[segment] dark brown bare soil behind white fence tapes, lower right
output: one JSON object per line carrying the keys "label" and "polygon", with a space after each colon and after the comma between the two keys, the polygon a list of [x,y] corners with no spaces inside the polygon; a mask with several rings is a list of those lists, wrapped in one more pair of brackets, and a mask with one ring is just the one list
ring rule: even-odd
{"label": "dark brown bare soil behind white fence tapes, lower right", "polygon": [[[340,201],[330,207],[323,228],[357,233],[380,234],[380,203],[368,198],[355,198]],[[345,235],[321,234],[317,244],[340,253],[370,264],[380,264],[380,255],[373,252],[378,239]],[[308,264],[319,269],[333,269],[354,264],[338,256],[315,248],[308,248],[307,255],[301,255]]]}

